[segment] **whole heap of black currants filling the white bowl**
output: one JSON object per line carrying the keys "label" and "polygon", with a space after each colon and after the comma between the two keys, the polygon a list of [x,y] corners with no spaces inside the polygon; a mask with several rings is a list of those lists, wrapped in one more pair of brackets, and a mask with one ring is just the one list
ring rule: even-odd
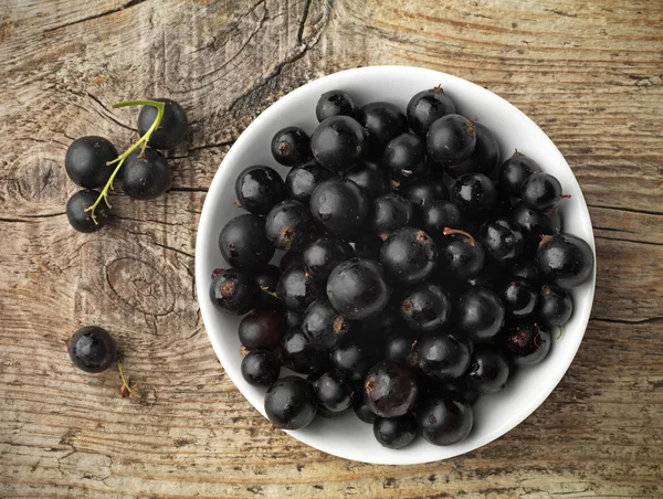
{"label": "whole heap of black currants filling the white bowl", "polygon": [[[248,213],[219,235],[210,299],[246,316],[242,375],[280,428],[352,407],[390,448],[464,439],[478,396],[541,362],[593,254],[560,233],[557,179],[439,87],[407,112],[324,94],[309,137],[288,127],[235,182]],[[280,266],[270,265],[284,250]],[[280,378],[287,368],[305,375]]]}

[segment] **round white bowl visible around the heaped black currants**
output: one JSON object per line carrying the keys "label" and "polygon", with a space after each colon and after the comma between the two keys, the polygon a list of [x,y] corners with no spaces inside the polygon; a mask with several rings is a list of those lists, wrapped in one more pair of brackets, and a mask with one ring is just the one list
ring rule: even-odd
{"label": "round white bowl visible around the heaped black currants", "polygon": [[[285,174],[287,169],[277,166],[270,152],[271,138],[278,129],[291,125],[313,132],[317,125],[315,105],[327,91],[346,91],[359,106],[373,100],[387,100],[404,110],[408,100],[415,93],[438,85],[453,99],[460,114],[486,125],[496,135],[503,159],[517,148],[535,159],[544,171],[559,179],[564,192],[571,194],[570,200],[561,203],[562,230],[587,241],[593,251],[594,241],[587,204],[568,163],[534,121],[497,95],[455,76],[406,66],[362,67],[311,82],[273,104],[240,136],[214,176],[198,227],[196,280],[204,326],[223,369],[263,415],[265,391],[248,384],[240,372],[240,319],[214,309],[208,295],[212,270],[227,265],[218,246],[219,232],[229,220],[241,213],[233,204],[238,173],[252,164],[267,164]],[[446,459],[486,445],[532,414],[566,373],[589,320],[594,278],[596,270],[591,279],[573,290],[573,316],[565,326],[562,337],[554,340],[548,358],[534,368],[518,372],[504,391],[478,400],[474,406],[474,428],[464,442],[436,447],[419,438],[403,449],[387,449],[373,438],[371,425],[361,423],[351,411],[335,420],[317,417],[308,427],[287,433],[335,456],[389,465]],[[552,336],[556,336],[555,331]]]}

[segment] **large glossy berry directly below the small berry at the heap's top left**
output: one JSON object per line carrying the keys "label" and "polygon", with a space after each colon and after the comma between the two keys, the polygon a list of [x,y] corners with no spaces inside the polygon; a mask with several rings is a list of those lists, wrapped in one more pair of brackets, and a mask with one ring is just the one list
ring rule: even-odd
{"label": "large glossy berry directly below the small berry at the heap's top left", "polygon": [[317,126],[311,137],[311,148],[323,167],[347,170],[365,153],[366,131],[349,116],[334,116]]}

